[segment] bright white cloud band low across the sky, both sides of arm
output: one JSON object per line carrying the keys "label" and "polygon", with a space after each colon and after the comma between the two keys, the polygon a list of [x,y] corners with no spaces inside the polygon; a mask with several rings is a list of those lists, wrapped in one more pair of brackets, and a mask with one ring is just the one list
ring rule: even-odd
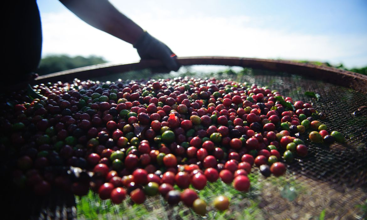
{"label": "bright white cloud band low across the sky, both sides of arm", "polygon": [[[135,12],[137,13],[137,12]],[[285,30],[254,28],[247,16],[174,16],[132,14],[135,22],[160,39],[178,56],[239,56],[343,62],[348,67],[367,64],[367,36],[307,35]],[[155,12],[156,13],[156,12]],[[113,62],[139,60],[136,50],[99,31],[65,10],[42,14],[43,55],[95,54]]]}

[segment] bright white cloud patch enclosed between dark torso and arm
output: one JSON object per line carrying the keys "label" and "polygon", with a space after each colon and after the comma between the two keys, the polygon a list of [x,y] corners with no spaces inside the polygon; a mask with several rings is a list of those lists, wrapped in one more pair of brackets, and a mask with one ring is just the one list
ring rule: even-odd
{"label": "bright white cloud patch enclosed between dark torso and arm", "polygon": [[69,11],[42,16],[43,56],[47,54],[91,54],[109,61],[137,61],[139,56],[129,44],[81,21]]}

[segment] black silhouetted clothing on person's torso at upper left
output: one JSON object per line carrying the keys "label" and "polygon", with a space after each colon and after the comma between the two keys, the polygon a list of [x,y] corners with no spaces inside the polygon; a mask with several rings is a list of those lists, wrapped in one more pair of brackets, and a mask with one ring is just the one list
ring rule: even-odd
{"label": "black silhouetted clothing on person's torso at upper left", "polygon": [[4,55],[6,63],[1,77],[8,80],[26,80],[41,59],[41,19],[36,0],[6,1]]}

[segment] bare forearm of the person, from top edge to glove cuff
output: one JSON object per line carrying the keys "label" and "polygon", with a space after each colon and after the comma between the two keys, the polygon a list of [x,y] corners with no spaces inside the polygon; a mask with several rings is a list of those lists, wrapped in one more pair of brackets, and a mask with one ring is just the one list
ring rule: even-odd
{"label": "bare forearm of the person, from top edge to glove cuff", "polygon": [[121,40],[134,44],[143,29],[118,11],[108,0],[60,0],[60,2],[91,26]]}

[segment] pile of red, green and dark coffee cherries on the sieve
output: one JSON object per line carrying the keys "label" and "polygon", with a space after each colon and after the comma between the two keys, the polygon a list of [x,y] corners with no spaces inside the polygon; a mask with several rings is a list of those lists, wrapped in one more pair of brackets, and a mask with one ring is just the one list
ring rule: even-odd
{"label": "pile of red, green and dark coffee cherries on the sieve", "polygon": [[[307,155],[295,134],[305,132],[304,120],[313,126],[316,113],[267,87],[226,79],[75,80],[34,89],[45,98],[24,91],[1,98],[1,163],[15,185],[36,195],[92,189],[115,204],[161,194],[199,214],[206,203],[190,185],[201,190],[219,178],[246,192],[254,164],[265,177],[283,175],[285,163]],[[228,205],[224,196],[214,201],[219,210]]]}

